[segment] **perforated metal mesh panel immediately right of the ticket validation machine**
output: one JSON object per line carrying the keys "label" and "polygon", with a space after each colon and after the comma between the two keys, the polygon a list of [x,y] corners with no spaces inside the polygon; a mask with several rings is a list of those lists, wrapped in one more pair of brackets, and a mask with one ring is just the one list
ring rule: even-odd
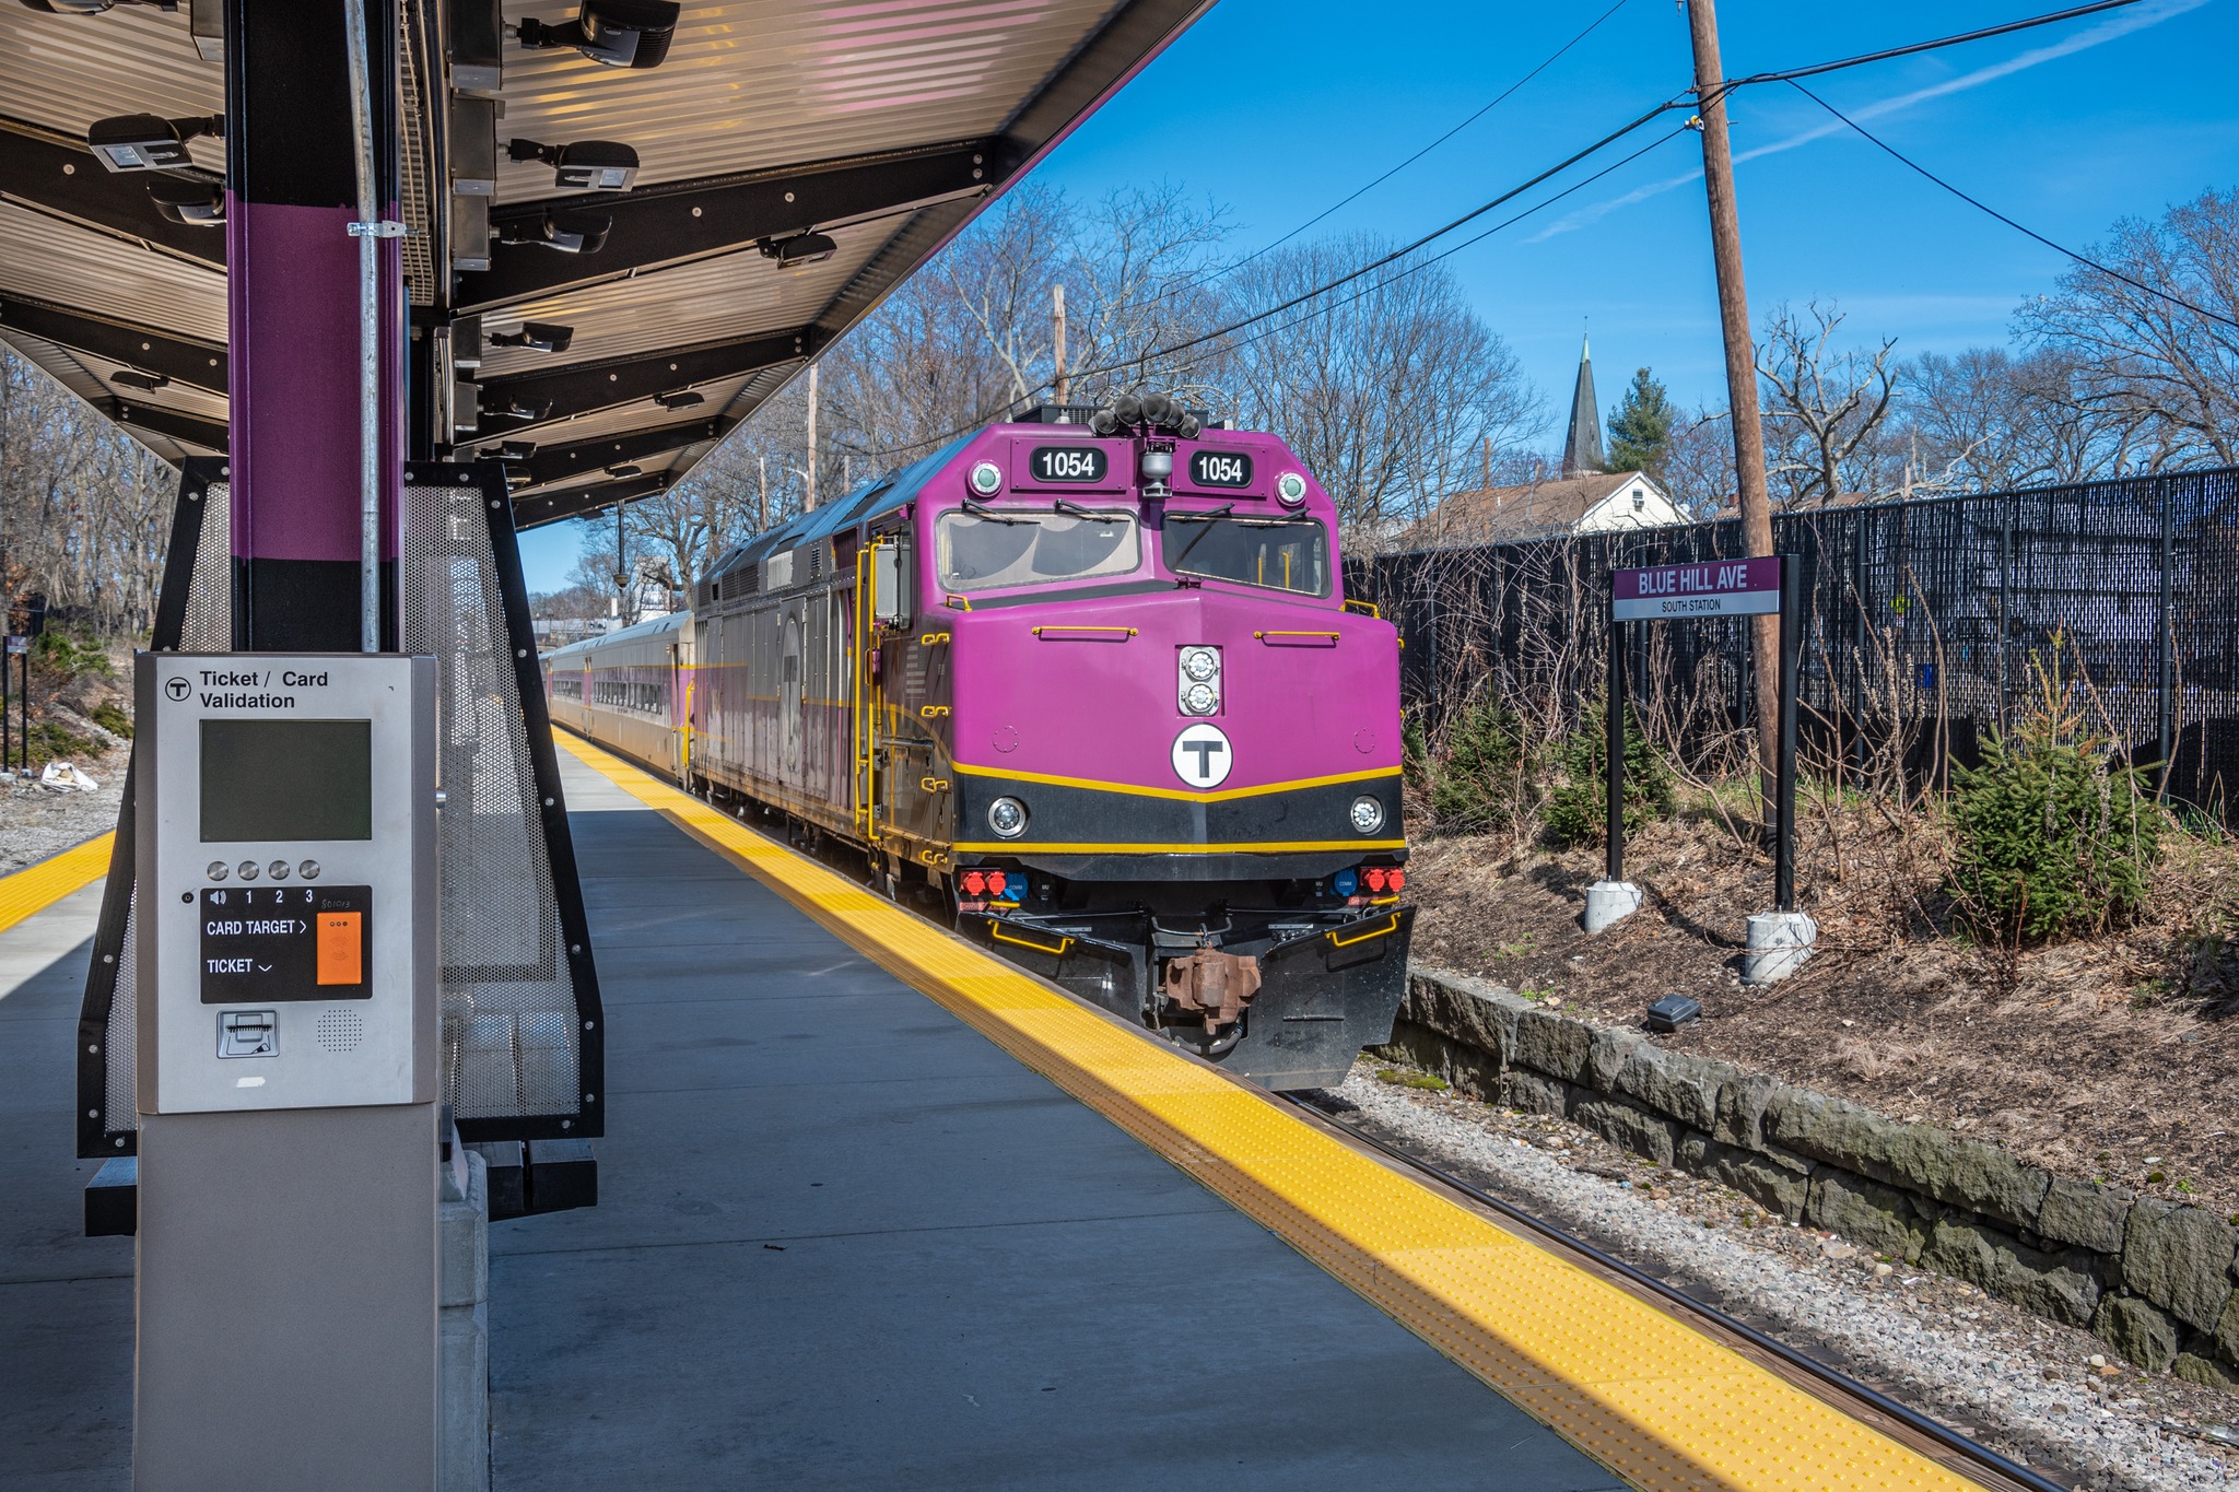
{"label": "perforated metal mesh panel immediately right of the ticket validation machine", "polygon": [[[466,474],[461,474],[466,476]],[[461,1121],[582,1112],[571,960],[484,488],[405,488],[403,649],[437,658],[443,1096]]]}

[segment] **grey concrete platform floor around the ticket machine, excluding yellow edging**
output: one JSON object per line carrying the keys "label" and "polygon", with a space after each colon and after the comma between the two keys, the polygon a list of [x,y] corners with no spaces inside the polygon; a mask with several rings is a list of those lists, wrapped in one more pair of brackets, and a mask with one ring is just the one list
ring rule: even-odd
{"label": "grey concrete platform floor around the ticket machine, excluding yellow edging", "polygon": [[[490,1230],[499,1488],[1619,1492],[1281,1239],[562,756],[602,1203]],[[78,1237],[99,888],[0,935],[0,1488],[130,1481]]]}

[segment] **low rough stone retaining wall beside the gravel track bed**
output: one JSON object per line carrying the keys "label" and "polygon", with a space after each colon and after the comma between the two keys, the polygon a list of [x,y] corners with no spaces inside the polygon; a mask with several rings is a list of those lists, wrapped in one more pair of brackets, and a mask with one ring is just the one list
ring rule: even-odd
{"label": "low rough stone retaining wall beside the gravel track bed", "polygon": [[2239,1387],[2239,1228],[2223,1215],[2055,1177],[1997,1145],[1420,964],[1388,1051],[1467,1094],[1722,1181],[1789,1221],[2089,1326],[2140,1367]]}

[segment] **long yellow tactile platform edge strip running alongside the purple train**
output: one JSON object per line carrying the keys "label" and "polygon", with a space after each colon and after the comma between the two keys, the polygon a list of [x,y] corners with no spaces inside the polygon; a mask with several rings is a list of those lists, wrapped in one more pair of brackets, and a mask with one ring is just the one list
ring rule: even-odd
{"label": "long yellow tactile platform edge strip running alongside the purple train", "polygon": [[1258,1089],[1182,1058],[598,747],[555,740],[1641,1492],[1975,1488],[1285,1114]]}

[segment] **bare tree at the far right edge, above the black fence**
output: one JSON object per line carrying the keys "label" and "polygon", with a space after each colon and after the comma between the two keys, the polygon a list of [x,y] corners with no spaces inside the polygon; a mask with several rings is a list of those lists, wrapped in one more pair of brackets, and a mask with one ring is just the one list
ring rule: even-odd
{"label": "bare tree at the far right edge, above the black fence", "polygon": [[2107,268],[2026,302],[2022,336],[2073,360],[2080,403],[2149,468],[2239,463],[2239,190],[2123,219],[2089,257]]}

